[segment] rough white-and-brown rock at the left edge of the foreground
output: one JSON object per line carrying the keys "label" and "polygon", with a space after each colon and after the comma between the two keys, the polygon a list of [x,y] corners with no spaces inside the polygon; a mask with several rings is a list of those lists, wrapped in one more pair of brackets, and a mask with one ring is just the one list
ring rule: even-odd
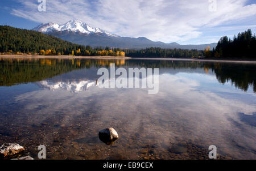
{"label": "rough white-and-brown rock at the left edge of the foreground", "polygon": [[5,143],[0,147],[0,155],[1,157],[12,156],[24,150],[24,147],[17,143]]}

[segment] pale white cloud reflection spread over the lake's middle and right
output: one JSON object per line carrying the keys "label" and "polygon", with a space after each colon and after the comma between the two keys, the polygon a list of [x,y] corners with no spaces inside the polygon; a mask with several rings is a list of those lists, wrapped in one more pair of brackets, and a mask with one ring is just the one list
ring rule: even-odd
{"label": "pale white cloud reflection spread over the lake's middle and right", "polygon": [[[34,117],[44,114],[42,119],[62,113],[63,122],[72,122],[75,116],[90,113],[97,116],[90,121],[91,125],[120,124],[129,135],[140,132],[158,142],[194,140],[205,147],[214,144],[230,156],[255,159],[255,154],[250,152],[256,150],[255,128],[240,121],[238,116],[238,113],[255,113],[254,94],[243,96],[251,99],[245,102],[236,96],[239,90],[233,88],[232,98],[227,98],[205,89],[204,83],[209,80],[209,84],[218,83],[206,74],[162,74],[157,95],[148,95],[146,89],[138,88],[91,87],[75,94],[67,89],[43,89],[17,96],[16,102],[24,104],[21,111],[33,113]],[[230,91],[230,87],[221,88]],[[40,117],[34,121],[40,122]],[[241,153],[239,147],[248,150]]]}

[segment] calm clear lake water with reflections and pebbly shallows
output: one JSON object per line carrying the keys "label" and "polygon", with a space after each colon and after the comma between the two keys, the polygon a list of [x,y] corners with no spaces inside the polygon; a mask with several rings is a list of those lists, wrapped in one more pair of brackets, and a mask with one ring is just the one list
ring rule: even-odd
{"label": "calm clear lake water with reflections and pebbly shallows", "polygon": [[[159,68],[159,93],[100,88],[98,69]],[[0,59],[0,143],[47,159],[256,159],[256,65]],[[114,127],[108,146],[98,131]]]}

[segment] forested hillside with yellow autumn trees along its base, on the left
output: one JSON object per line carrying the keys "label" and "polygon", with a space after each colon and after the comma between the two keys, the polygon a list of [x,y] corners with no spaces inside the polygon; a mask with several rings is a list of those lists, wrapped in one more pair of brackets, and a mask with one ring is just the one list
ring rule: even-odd
{"label": "forested hillside with yellow autumn trees along its base, on the left", "polygon": [[125,56],[117,48],[92,48],[27,29],[0,25],[1,54],[40,54],[40,55],[110,55]]}

